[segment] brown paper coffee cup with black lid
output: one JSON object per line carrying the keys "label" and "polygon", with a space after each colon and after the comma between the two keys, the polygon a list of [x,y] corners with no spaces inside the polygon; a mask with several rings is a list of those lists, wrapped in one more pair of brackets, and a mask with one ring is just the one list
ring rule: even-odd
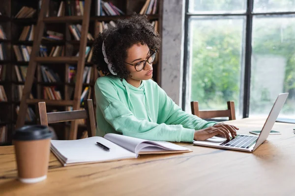
{"label": "brown paper coffee cup with black lid", "polygon": [[36,183],[47,178],[52,132],[44,125],[28,125],[13,136],[18,178]]}

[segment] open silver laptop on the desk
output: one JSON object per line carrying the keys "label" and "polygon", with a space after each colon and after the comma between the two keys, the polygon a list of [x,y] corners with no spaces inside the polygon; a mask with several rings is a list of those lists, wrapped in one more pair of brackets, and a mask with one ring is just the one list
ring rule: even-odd
{"label": "open silver laptop on the desk", "polygon": [[227,140],[225,138],[213,137],[205,141],[194,141],[194,145],[205,147],[217,147],[231,150],[254,152],[268,137],[289,93],[279,94],[275,100],[266,122],[259,136],[237,134],[236,138]]}

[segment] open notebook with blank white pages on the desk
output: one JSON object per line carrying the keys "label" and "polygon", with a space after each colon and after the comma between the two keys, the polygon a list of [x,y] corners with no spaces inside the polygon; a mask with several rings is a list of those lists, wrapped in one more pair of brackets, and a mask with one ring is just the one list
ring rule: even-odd
{"label": "open notebook with blank white pages on the desk", "polygon": [[[106,151],[96,142],[110,148]],[[139,154],[191,152],[169,142],[150,141],[113,133],[80,140],[52,140],[51,150],[63,166],[137,158]]]}

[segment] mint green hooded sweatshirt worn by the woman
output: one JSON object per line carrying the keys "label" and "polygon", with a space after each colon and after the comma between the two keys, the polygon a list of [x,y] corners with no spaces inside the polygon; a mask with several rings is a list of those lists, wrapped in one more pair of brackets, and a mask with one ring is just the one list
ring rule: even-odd
{"label": "mint green hooded sweatshirt worn by the woman", "polygon": [[148,140],[193,142],[195,130],[215,124],[187,114],[154,81],[136,88],[116,76],[95,83],[96,135],[117,133]]}

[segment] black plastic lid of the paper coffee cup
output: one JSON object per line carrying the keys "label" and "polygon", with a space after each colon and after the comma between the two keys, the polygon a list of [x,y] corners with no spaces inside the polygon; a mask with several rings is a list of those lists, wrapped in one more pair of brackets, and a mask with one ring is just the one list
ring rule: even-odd
{"label": "black plastic lid of the paper coffee cup", "polygon": [[29,141],[29,140],[44,140],[52,137],[52,131],[45,125],[26,125],[18,128],[13,140]]}

